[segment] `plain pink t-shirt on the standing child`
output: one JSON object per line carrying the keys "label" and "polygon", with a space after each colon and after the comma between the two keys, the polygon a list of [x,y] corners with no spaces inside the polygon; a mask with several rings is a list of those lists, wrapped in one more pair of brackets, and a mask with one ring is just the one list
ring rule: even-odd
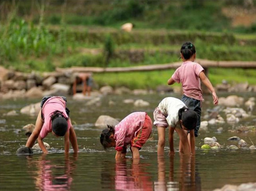
{"label": "plain pink t-shirt on the standing child", "polygon": [[183,93],[189,98],[203,100],[199,74],[203,67],[196,62],[183,62],[172,75],[172,79],[182,84]]}

